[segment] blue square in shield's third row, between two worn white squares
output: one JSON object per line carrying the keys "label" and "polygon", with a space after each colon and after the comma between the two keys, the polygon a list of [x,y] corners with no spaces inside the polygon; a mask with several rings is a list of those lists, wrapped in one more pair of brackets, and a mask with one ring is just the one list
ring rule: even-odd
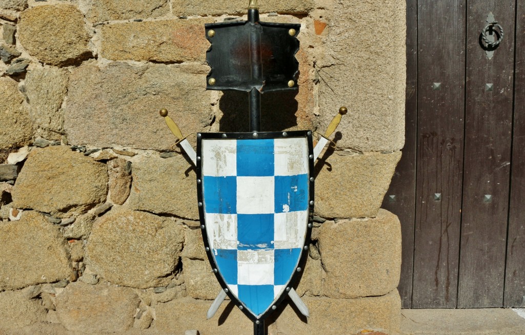
{"label": "blue square in shield's third row, between two worn white squares", "polygon": [[273,249],[274,214],[237,214],[238,250]]}

